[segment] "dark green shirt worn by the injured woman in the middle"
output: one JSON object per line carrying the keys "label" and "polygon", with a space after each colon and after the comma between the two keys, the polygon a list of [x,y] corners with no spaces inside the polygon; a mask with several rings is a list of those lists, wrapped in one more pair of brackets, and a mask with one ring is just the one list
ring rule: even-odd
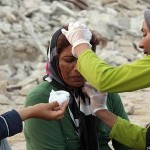
{"label": "dark green shirt worn by the injured woman in the middle", "polygon": [[[47,103],[52,89],[59,90],[47,81],[42,82],[27,96],[25,106]],[[128,119],[118,94],[108,94],[107,107],[117,116]],[[108,142],[111,129],[98,118],[96,121],[100,148],[101,150],[110,150]],[[29,119],[25,121],[24,134],[27,150],[80,150],[79,138],[68,109],[61,120]],[[127,147],[115,140],[112,143],[116,150],[128,150]]]}

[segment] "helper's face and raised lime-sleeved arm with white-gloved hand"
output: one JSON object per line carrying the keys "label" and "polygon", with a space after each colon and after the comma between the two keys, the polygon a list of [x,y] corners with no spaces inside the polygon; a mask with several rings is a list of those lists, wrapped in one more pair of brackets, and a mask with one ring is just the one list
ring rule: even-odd
{"label": "helper's face and raised lime-sleeved arm with white-gloved hand", "polygon": [[150,10],[144,13],[141,29],[143,38],[139,47],[146,56],[135,62],[112,67],[101,60],[90,48],[91,32],[79,22],[70,23],[62,33],[73,45],[73,55],[78,57],[77,69],[97,90],[102,92],[127,92],[150,87]]}

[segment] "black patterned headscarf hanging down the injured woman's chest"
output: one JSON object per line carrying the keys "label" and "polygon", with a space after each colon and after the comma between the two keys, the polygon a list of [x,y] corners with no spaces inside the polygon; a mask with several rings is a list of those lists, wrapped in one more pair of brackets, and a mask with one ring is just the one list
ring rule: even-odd
{"label": "black patterned headscarf hanging down the injured woman's chest", "polygon": [[68,109],[80,140],[81,150],[99,150],[96,120],[90,112],[89,97],[82,92],[81,88],[70,89],[61,77],[57,52],[57,40],[61,34],[61,29],[53,34],[47,50],[51,83],[71,95]]}

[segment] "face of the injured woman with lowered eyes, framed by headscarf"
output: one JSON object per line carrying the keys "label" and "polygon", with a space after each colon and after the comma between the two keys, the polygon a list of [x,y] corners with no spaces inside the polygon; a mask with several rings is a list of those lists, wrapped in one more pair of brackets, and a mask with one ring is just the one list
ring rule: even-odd
{"label": "face of the injured woman with lowered eyes, framed by headscarf", "polygon": [[72,46],[66,47],[59,55],[59,68],[64,82],[71,87],[82,87],[85,79],[77,71],[77,58],[71,53]]}

